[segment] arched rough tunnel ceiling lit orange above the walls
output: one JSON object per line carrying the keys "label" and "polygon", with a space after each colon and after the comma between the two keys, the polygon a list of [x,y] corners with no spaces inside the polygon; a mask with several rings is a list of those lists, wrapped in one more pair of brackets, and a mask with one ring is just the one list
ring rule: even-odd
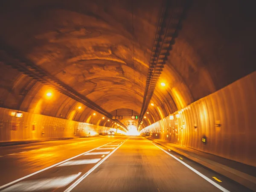
{"label": "arched rough tunnel ceiling lit orange above the walls", "polygon": [[[251,41],[255,13],[250,6],[241,1],[232,1],[232,5],[188,2],[182,1],[177,7],[172,4],[173,13],[169,14],[182,9],[185,17],[177,18],[182,25],[151,99],[154,107],[149,105],[145,126],[255,70],[255,42]],[[165,3],[2,2],[0,105],[108,125],[100,115],[92,120],[93,110],[86,106],[73,112],[79,103],[62,93],[55,93],[51,101],[42,101],[47,90],[54,87],[7,66],[29,62],[109,113],[125,108],[140,114],[160,10]]]}

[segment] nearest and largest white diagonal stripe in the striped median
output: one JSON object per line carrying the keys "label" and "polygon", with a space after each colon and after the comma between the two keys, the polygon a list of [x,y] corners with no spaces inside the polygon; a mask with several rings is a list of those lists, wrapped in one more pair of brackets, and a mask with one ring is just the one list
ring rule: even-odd
{"label": "nearest and largest white diagonal stripe in the striped median", "polygon": [[63,177],[52,177],[49,179],[38,179],[38,180],[28,180],[21,181],[16,183],[13,186],[10,186],[6,189],[3,189],[1,192],[13,192],[13,191],[42,191],[47,189],[55,189],[67,186],[73,180],[81,175],[81,172],[75,175],[63,176]]}

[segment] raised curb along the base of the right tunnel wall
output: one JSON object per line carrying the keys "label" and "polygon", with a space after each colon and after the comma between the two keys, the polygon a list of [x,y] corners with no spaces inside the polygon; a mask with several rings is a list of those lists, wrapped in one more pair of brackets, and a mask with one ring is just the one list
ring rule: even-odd
{"label": "raised curb along the base of the right tunnel wall", "polygon": [[[151,140],[147,137],[145,137],[146,139],[148,140]],[[154,140],[151,140],[152,142],[154,143],[157,143],[156,141]],[[199,158],[196,158],[196,157],[192,157],[191,155],[189,154],[186,154],[182,151],[179,151],[173,147],[170,147],[170,146],[165,146],[163,145],[162,143],[157,143],[158,145],[161,145],[163,147],[166,147],[166,148],[169,148],[171,149],[172,151],[176,152],[177,154],[180,154],[182,155],[183,157],[186,157],[188,158],[189,160],[192,160],[194,161],[195,163],[198,163],[200,164],[201,166],[204,166],[206,167],[207,169],[210,169],[212,170],[213,172],[217,172],[218,174],[224,176],[224,177],[227,177],[233,181],[235,181],[236,183],[239,183],[245,187],[247,187],[248,189],[251,189],[253,191],[256,191],[256,177],[253,177],[251,175],[248,175],[244,172],[240,172],[238,170],[235,170],[233,168],[230,168],[228,166],[224,166],[220,163],[216,163],[216,162],[206,162],[204,160],[201,160]]]}

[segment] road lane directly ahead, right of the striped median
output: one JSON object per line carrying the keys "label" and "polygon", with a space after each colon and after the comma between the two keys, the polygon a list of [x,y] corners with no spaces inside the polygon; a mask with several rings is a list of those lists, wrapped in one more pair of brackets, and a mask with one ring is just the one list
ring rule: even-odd
{"label": "road lane directly ahead, right of the striped median", "polygon": [[[202,175],[209,172],[199,165],[193,166],[200,167]],[[227,178],[223,182],[230,182],[232,191],[247,191]],[[221,191],[143,137],[130,138],[72,191],[85,189],[90,192]]]}

